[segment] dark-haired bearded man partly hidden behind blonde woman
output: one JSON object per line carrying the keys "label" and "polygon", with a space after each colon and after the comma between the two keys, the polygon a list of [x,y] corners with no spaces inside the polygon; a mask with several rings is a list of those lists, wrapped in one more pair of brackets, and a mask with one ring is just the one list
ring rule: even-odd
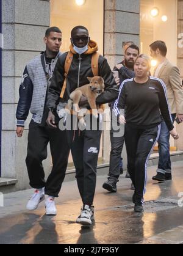
{"label": "dark-haired bearded man partly hidden behind blonde woman", "polygon": [[[124,49],[124,60],[113,68],[114,71],[118,71],[119,79],[116,79],[117,84],[121,85],[125,79],[134,78],[134,63],[138,55],[139,48],[137,45],[128,45],[127,48]],[[115,119],[115,114],[112,109],[113,103],[110,105],[111,121]],[[124,144],[124,136],[115,136],[115,133],[118,133],[118,131],[114,131],[113,128],[111,128],[109,177],[102,185],[102,188],[107,189],[107,191],[110,192],[117,192],[117,182],[120,176],[119,163],[121,162],[121,152]],[[131,186],[131,189],[133,189],[133,185]]]}

